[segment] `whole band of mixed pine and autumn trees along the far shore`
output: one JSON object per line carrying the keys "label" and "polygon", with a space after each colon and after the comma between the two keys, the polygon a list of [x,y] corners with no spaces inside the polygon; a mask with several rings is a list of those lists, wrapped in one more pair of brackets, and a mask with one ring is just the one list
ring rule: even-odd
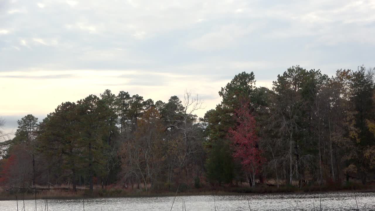
{"label": "whole band of mixed pine and autumn trees along the far shore", "polygon": [[328,76],[297,65],[268,89],[255,85],[253,72],[242,72],[202,118],[196,112],[204,101],[189,91],[168,102],[109,89],[63,102],[45,119],[24,116],[15,137],[0,143],[0,186],[147,192],[178,184],[181,190],[369,184],[374,74],[359,66]]}

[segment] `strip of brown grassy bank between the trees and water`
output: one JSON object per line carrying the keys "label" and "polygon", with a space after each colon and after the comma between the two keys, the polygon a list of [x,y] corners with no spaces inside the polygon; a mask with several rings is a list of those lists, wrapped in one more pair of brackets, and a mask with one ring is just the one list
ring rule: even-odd
{"label": "strip of brown grassy bank between the trees and water", "polygon": [[[153,196],[174,196],[177,187],[170,187],[168,190],[144,191],[140,189],[121,189],[111,187],[107,189],[96,188],[93,192],[87,189],[79,189],[77,192],[72,190],[42,190],[37,191],[37,199],[81,199],[81,198],[99,198],[99,197],[153,197]],[[316,193],[331,191],[375,191],[375,184],[329,184],[324,186],[306,186],[302,188],[294,186],[280,186],[279,188],[268,185],[258,185],[256,187],[209,187],[209,188],[189,188],[187,185],[181,185],[178,195],[231,195],[231,194],[259,194],[259,193]],[[33,192],[20,193],[16,191],[1,191],[0,200],[35,199]]]}

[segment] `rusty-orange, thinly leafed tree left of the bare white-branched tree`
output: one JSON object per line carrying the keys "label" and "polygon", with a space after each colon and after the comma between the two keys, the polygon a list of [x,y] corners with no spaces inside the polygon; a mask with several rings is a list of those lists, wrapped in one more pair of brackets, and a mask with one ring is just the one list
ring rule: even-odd
{"label": "rusty-orange, thinly leafed tree left of the bare white-branched tree", "polygon": [[148,109],[137,122],[135,133],[124,143],[121,150],[125,179],[142,179],[145,190],[157,183],[157,176],[163,171],[165,150],[163,149],[163,125],[159,112]]}

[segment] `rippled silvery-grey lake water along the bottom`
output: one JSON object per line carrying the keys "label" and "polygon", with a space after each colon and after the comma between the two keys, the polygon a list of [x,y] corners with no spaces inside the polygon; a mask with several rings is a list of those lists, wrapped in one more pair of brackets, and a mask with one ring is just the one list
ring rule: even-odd
{"label": "rippled silvery-grey lake water along the bottom", "polygon": [[[255,195],[231,195],[215,196],[216,205],[220,211],[249,210],[288,210],[312,211],[319,210],[320,197],[323,210],[357,210],[356,200],[353,193],[323,193],[323,194],[255,194]],[[359,210],[375,210],[375,193],[356,193]],[[138,197],[138,198],[98,198],[85,199],[86,211],[170,211],[174,197]],[[182,209],[182,199],[185,200],[187,211],[214,211],[214,196],[177,196],[173,205],[174,211]],[[313,203],[314,201],[314,203]],[[45,200],[37,200],[37,211],[45,207]],[[21,211],[23,202],[18,201]],[[26,211],[35,209],[35,200],[25,201]],[[16,211],[16,201],[0,201],[0,211]],[[49,199],[49,211],[81,211],[82,200]]]}

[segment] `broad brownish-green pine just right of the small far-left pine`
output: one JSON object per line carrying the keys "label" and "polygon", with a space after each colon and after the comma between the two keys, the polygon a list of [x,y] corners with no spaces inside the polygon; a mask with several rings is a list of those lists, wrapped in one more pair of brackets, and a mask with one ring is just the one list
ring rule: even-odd
{"label": "broad brownish-green pine just right of the small far-left pine", "polygon": [[49,167],[57,181],[70,178],[77,190],[78,174],[82,173],[83,154],[81,128],[77,104],[64,102],[40,124],[38,150],[49,160]]}

